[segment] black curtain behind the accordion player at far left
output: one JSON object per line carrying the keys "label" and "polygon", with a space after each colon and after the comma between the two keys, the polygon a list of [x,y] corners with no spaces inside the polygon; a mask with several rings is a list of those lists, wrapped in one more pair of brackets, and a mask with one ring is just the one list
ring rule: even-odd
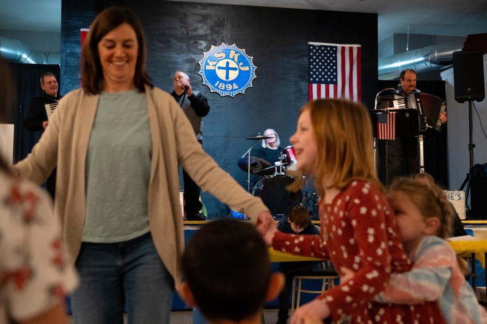
{"label": "black curtain behind the accordion player at far left", "polygon": [[30,102],[36,97],[41,97],[44,91],[41,89],[41,75],[51,72],[56,75],[61,89],[60,68],[55,64],[22,64],[11,63],[14,89],[13,113],[9,120],[14,124],[14,163],[23,159],[32,150],[41,138],[42,132],[30,132],[24,128],[24,120],[29,112]]}

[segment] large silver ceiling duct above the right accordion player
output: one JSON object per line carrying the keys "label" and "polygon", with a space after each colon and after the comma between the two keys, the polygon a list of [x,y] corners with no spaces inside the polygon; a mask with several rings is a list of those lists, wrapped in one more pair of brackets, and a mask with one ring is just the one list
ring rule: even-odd
{"label": "large silver ceiling duct above the right accordion player", "polygon": [[444,43],[380,57],[378,59],[379,80],[397,79],[404,69],[423,73],[449,68],[453,64],[453,52],[461,51],[464,43],[465,41]]}

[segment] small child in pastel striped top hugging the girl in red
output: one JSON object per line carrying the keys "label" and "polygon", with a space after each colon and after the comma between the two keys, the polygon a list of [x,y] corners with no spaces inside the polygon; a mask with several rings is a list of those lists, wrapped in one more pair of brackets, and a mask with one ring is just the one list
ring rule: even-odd
{"label": "small child in pastel striped top hugging the girl in red", "polygon": [[[410,305],[438,300],[447,323],[487,323],[487,313],[462,273],[468,267],[465,260],[443,239],[450,236],[454,212],[441,188],[399,178],[386,197],[414,265],[408,272],[392,273],[375,300]],[[340,280],[352,277],[349,269],[340,271]]]}

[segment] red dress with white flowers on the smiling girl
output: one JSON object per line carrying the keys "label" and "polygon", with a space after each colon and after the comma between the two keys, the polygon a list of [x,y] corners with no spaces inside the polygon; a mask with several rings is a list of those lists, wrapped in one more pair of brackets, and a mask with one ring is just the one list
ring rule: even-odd
{"label": "red dress with white flowers on the smiling girl", "polygon": [[419,305],[375,303],[391,272],[411,268],[397,234],[393,213],[380,191],[368,182],[353,181],[330,205],[320,203],[320,235],[276,232],[277,251],[330,259],[336,269],[355,276],[318,298],[327,303],[333,320],[350,314],[354,323],[444,323],[437,302]]}

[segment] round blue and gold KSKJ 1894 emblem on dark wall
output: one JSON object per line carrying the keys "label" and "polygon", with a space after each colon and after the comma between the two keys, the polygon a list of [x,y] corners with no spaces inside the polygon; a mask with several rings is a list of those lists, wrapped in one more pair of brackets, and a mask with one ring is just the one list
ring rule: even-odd
{"label": "round blue and gold KSKJ 1894 emblem on dark wall", "polygon": [[201,66],[198,74],[203,77],[203,84],[211,92],[218,92],[220,96],[235,96],[252,87],[255,69],[252,57],[235,46],[224,43],[213,46],[205,52],[199,61]]}

